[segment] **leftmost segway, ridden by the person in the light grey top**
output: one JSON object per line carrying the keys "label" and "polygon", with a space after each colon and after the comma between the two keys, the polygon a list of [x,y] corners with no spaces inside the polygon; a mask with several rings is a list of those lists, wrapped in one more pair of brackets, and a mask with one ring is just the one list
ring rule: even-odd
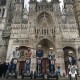
{"label": "leftmost segway, ridden by the person in the light grey top", "polygon": [[11,63],[9,64],[8,70],[6,72],[6,79],[12,78],[17,79],[17,62],[18,60],[16,58],[13,58]]}

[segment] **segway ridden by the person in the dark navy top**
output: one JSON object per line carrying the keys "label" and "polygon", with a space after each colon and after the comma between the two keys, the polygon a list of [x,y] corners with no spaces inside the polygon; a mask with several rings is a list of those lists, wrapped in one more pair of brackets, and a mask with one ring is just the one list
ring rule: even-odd
{"label": "segway ridden by the person in the dark navy top", "polygon": [[42,57],[37,57],[36,71],[34,72],[34,79],[42,78],[44,79],[44,73],[42,72]]}

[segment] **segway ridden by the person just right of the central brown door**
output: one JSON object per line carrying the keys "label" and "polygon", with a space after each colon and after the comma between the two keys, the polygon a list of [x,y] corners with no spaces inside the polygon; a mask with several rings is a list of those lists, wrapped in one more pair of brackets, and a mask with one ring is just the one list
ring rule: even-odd
{"label": "segway ridden by the person just right of the central brown door", "polygon": [[47,72],[47,80],[56,79],[58,80],[58,73],[55,72],[55,60],[50,60],[51,64],[49,65],[50,70]]}

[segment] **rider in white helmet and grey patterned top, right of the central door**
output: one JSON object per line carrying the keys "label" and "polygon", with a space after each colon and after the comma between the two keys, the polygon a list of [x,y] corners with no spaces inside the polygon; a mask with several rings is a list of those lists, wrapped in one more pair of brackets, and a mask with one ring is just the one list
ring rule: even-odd
{"label": "rider in white helmet and grey patterned top, right of the central door", "polygon": [[[49,59],[49,71],[51,72],[51,67],[54,67],[54,64],[51,64],[51,61],[54,60],[55,61],[55,53],[53,51],[53,48],[49,48],[49,53],[48,53],[48,59]],[[54,71],[55,71],[55,67],[54,67]]]}

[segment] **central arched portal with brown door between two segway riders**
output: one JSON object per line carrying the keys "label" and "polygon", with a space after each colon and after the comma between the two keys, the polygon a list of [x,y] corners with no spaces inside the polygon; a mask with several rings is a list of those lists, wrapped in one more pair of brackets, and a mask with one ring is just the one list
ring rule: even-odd
{"label": "central arched portal with brown door between two segway riders", "polygon": [[42,60],[42,71],[44,73],[47,73],[47,71],[49,70],[49,60],[48,60],[48,53],[50,51],[50,48],[53,48],[53,50],[55,50],[54,45],[51,41],[49,41],[48,39],[42,39],[38,45],[41,45],[41,49],[44,52],[44,58]]}

